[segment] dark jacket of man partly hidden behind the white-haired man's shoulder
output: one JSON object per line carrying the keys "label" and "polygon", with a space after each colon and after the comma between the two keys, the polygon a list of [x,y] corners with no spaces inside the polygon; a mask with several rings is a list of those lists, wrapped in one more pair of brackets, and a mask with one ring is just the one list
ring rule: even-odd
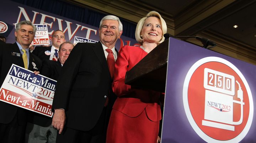
{"label": "dark jacket of man partly hidden behind the white-haired man's shoulder", "polygon": [[[57,80],[61,71],[62,65],[59,61],[52,61],[52,60],[44,60],[42,68],[40,70],[40,74],[44,75],[48,78]],[[38,113],[31,113],[29,115],[28,122],[33,124],[48,127],[52,124],[52,118],[47,117],[45,115],[41,115]]]}

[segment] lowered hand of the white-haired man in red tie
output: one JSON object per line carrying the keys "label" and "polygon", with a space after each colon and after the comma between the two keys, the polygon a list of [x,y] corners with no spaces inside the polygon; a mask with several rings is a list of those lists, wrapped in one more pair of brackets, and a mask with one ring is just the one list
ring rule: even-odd
{"label": "lowered hand of the white-haired man in red tie", "polygon": [[65,110],[55,109],[53,114],[52,126],[59,131],[59,134],[61,134],[63,131],[65,121],[66,121]]}

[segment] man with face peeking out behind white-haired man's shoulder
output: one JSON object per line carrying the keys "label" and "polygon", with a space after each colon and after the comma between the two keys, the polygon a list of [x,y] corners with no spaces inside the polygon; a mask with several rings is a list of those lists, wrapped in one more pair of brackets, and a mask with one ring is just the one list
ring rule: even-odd
{"label": "man with face peeking out behind white-haired man's shoulder", "polygon": [[[68,58],[74,45],[71,42],[64,42],[59,46],[58,61],[44,60],[40,74],[48,78],[58,80],[62,65]],[[33,113],[30,114],[26,130],[26,141],[28,143],[48,142],[55,143],[57,130],[53,128],[52,118]]]}

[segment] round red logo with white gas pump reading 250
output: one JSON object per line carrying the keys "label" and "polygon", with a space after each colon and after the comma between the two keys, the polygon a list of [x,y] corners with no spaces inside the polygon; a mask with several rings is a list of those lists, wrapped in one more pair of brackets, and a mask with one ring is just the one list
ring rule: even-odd
{"label": "round red logo with white gas pump reading 250", "polygon": [[207,142],[241,141],[249,131],[251,91],[242,73],[225,59],[196,62],[186,76],[183,101],[190,124]]}

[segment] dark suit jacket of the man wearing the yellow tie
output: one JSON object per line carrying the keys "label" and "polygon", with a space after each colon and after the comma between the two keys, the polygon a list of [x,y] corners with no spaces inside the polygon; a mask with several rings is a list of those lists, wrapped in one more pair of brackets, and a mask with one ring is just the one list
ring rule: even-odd
{"label": "dark suit jacket of the man wearing the yellow tie", "polygon": [[[24,68],[22,56],[20,57],[12,56],[12,52],[21,53],[16,42],[14,44],[0,44],[0,85],[1,86],[12,64],[16,64]],[[34,54],[30,53],[28,70],[31,70],[31,71],[37,70],[37,69],[34,69],[32,62],[36,64],[36,67],[38,68],[38,70],[41,68],[41,65],[42,65],[41,60]],[[8,124],[9,122],[12,121],[12,119],[17,113],[19,124],[20,125],[26,124],[26,121],[27,121],[26,109],[23,109],[5,102],[1,102],[1,101],[0,101],[0,109],[1,109],[0,123]]]}

